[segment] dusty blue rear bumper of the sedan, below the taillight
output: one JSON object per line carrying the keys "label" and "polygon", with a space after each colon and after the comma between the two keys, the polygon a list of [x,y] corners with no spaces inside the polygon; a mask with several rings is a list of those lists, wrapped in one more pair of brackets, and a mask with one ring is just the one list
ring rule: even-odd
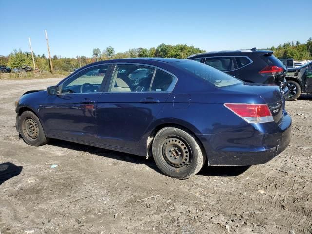
{"label": "dusty blue rear bumper of the sedan, below the taillight", "polygon": [[[237,137],[235,138],[235,133]],[[286,113],[274,133],[248,131],[245,137],[238,131],[202,136],[209,166],[247,166],[263,164],[286,149],[291,138],[291,117]],[[222,137],[222,138],[220,138]],[[218,139],[219,138],[219,139]],[[212,142],[222,142],[212,144]]]}

